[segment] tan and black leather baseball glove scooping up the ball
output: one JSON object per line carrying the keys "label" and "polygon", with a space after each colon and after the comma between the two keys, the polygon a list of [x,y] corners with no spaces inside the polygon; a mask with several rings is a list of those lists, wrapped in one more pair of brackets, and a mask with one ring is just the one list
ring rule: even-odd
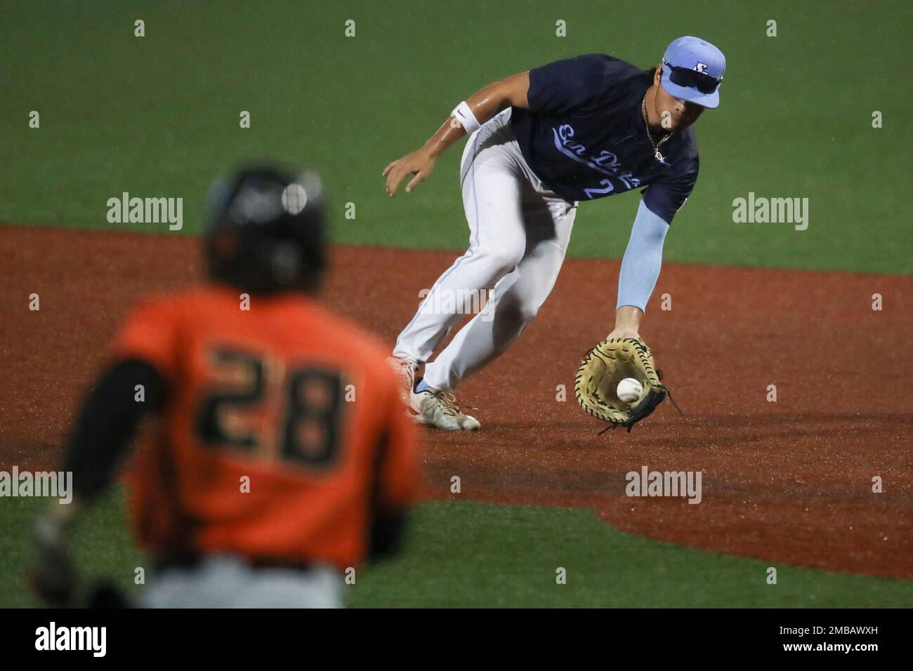
{"label": "tan and black leather baseball glove scooping up the ball", "polygon": [[[633,377],[644,391],[631,404],[618,398],[615,389],[624,378]],[[660,382],[662,372],[656,370],[653,355],[643,342],[634,338],[606,338],[583,357],[574,392],[583,410],[608,422],[608,429],[631,428],[656,410],[666,398],[666,387]],[[680,411],[679,411],[680,412]]]}

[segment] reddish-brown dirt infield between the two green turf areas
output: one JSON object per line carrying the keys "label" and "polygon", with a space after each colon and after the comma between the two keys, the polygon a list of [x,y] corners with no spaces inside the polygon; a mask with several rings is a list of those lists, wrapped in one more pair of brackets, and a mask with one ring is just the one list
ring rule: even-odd
{"label": "reddish-brown dirt infield between the two green turf areas", "polygon": [[[337,248],[326,299],[392,343],[455,256]],[[0,258],[0,468],[47,464],[131,301],[198,277],[196,241],[3,226]],[[659,540],[913,579],[913,278],[666,264],[643,335],[687,417],[664,404],[597,436],[572,383],[611,328],[617,272],[569,261],[515,347],[461,390],[482,432],[426,430],[429,496],[452,496],[456,475],[461,497],[589,506]],[[627,498],[642,466],[703,471],[703,501]]]}

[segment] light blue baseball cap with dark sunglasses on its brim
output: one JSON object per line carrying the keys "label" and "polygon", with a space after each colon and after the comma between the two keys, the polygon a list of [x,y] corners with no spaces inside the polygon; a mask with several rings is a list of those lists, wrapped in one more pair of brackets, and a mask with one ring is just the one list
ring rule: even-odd
{"label": "light blue baseball cap with dark sunglasses on its brim", "polygon": [[660,83],[670,96],[715,108],[725,71],[726,57],[717,47],[700,37],[679,37],[663,54]]}

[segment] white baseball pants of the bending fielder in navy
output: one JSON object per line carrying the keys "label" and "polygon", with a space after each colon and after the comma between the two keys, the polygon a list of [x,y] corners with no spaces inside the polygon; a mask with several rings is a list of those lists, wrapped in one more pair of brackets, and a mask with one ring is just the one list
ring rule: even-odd
{"label": "white baseball pants of the bending fielder in navy", "polygon": [[536,316],[558,278],[577,213],[577,203],[547,189],[526,163],[510,108],[467,139],[460,184],[469,248],[437,278],[394,349],[394,356],[427,362],[472,309],[469,297],[491,288],[485,310],[425,365],[425,382],[442,391],[507,351]]}

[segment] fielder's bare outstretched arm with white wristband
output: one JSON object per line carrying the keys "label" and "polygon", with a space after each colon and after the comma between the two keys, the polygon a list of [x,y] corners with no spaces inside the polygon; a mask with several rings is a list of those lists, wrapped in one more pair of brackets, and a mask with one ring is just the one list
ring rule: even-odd
{"label": "fielder's bare outstretched arm with white wristband", "polygon": [[405,155],[398,161],[387,165],[383,176],[387,178],[387,194],[395,195],[407,174],[414,174],[412,181],[406,187],[406,193],[412,191],[435,169],[435,161],[447,147],[475,130],[476,124],[481,125],[509,107],[519,107],[524,110],[530,106],[527,92],[530,90],[530,73],[520,72],[488,84],[484,89],[478,90],[467,100],[460,103],[452,115],[437,129],[436,133],[428,138],[421,149]]}

